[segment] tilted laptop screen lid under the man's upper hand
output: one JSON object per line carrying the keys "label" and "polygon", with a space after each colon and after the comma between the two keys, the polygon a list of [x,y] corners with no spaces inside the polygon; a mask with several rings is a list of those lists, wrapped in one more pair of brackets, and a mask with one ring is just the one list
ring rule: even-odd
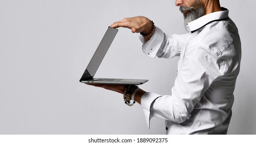
{"label": "tilted laptop screen lid under the man's upper hand", "polygon": [[118,30],[116,28],[107,28],[107,31],[103,36],[97,50],[93,54],[92,59],[89,62],[81,80],[92,78],[96,74],[96,71],[98,70],[107,50],[109,50],[110,45],[112,44],[112,41],[114,40],[117,32]]}

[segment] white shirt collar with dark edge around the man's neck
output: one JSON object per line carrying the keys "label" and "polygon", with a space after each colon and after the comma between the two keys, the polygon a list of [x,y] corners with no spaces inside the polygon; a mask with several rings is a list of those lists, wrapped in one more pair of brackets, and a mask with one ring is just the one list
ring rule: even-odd
{"label": "white shirt collar with dark edge around the man's neck", "polygon": [[212,22],[212,21],[220,21],[223,19],[226,19],[228,17],[228,9],[222,7],[222,11],[212,12],[205,16],[202,16],[190,23],[187,24],[187,30],[189,30],[191,33],[197,31],[199,28],[205,26],[206,24]]}

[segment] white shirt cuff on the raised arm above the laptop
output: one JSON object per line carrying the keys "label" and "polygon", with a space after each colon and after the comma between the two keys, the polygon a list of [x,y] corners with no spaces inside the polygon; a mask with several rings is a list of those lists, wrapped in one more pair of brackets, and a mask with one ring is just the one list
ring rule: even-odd
{"label": "white shirt cuff on the raised arm above the laptop", "polygon": [[142,51],[149,55],[150,57],[155,57],[156,53],[161,47],[161,42],[163,42],[164,39],[164,33],[163,31],[155,26],[155,32],[151,36],[150,40],[146,41],[144,40],[143,36],[139,36],[139,39],[142,42]]}

